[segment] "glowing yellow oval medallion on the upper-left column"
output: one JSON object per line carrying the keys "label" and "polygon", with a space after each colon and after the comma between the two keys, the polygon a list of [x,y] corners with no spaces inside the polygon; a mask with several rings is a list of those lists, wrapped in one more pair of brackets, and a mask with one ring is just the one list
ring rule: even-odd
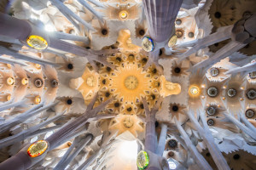
{"label": "glowing yellow oval medallion on the upper-left column", "polygon": [[48,47],[48,42],[44,39],[44,37],[40,37],[37,35],[31,35],[26,38],[26,43],[35,49],[45,49]]}

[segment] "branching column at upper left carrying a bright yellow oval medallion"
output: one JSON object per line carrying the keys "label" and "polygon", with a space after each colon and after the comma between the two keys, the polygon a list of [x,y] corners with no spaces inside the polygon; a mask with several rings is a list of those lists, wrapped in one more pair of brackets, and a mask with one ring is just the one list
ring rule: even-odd
{"label": "branching column at upper left carrying a bright yellow oval medallion", "polygon": [[[36,36],[36,37],[31,37]],[[31,37],[31,38],[29,38]],[[38,39],[39,38],[39,39]],[[92,61],[96,60],[101,62],[103,65],[108,65],[109,67],[114,69],[114,66],[106,61],[106,57],[102,56],[102,54],[113,54],[118,51],[118,49],[106,49],[100,51],[94,51],[91,49],[86,49],[74,45],[73,43],[62,41],[61,39],[77,39],[79,37],[74,37],[72,35],[65,36],[64,34],[60,34],[59,32],[53,32],[48,34],[44,30],[40,29],[37,26],[34,26],[32,23],[26,20],[19,20],[15,17],[11,17],[8,14],[0,13],[0,40],[3,42],[15,43],[21,46],[25,45],[27,47],[32,47],[38,49],[41,40],[47,44],[44,46],[45,48],[40,48],[41,50],[52,52],[52,50],[48,50],[48,48],[55,48],[67,53],[76,54],[78,56],[85,56],[92,63]],[[43,38],[43,39],[42,39]],[[30,40],[28,42],[27,40]],[[84,39],[82,40],[84,41]],[[35,59],[31,56],[26,56],[18,53],[18,50],[13,48],[0,48],[0,54],[8,54],[13,56],[16,59],[23,59],[26,61],[30,61],[33,63],[37,63],[39,65],[55,65],[55,63],[49,62],[45,59]],[[90,57],[89,57],[90,55]]]}

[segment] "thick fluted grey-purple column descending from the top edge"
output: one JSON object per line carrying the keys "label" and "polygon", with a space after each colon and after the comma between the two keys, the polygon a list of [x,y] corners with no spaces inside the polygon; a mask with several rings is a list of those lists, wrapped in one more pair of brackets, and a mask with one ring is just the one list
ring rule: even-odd
{"label": "thick fluted grey-purple column descending from the top edge", "polygon": [[147,47],[152,48],[146,49],[150,53],[145,69],[153,63],[158,65],[160,48],[164,48],[172,35],[174,35],[174,21],[182,3],[182,0],[143,0],[143,9],[148,22],[147,36],[153,42],[152,45],[146,43]]}

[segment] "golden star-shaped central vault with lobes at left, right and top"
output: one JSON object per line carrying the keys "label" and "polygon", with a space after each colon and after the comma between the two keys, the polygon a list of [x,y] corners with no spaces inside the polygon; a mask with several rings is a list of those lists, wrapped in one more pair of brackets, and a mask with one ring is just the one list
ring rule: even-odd
{"label": "golden star-shaped central vault with lobes at left, right and top", "polygon": [[[108,62],[115,65],[113,70],[105,65],[98,65],[98,72],[90,64],[86,65],[82,77],[70,82],[72,88],[79,89],[88,105],[93,94],[99,93],[98,102],[104,102],[112,96],[116,99],[108,105],[106,111],[116,114],[139,115],[143,113],[142,98],[146,98],[149,107],[155,105],[157,99],[172,94],[179,94],[181,86],[166,81],[154,65],[147,70],[143,66],[148,56],[139,53],[142,49],[131,43],[127,31],[120,31],[118,44],[119,53],[108,56]],[[126,48],[125,48],[126,47]],[[128,47],[133,47],[134,50]]]}

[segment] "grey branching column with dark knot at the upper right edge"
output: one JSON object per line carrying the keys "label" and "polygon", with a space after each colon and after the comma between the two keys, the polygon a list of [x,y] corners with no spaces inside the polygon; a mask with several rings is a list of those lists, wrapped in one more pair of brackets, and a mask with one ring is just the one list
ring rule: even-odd
{"label": "grey branching column with dark knot at the upper right edge", "polygon": [[[179,61],[186,59],[190,54],[194,54],[201,48],[210,46],[216,42],[222,42],[226,39],[231,38],[231,41],[226,44],[223,48],[220,48],[216,53],[209,56],[209,59],[203,60],[196,65],[193,65],[189,71],[195,71],[203,67],[210,67],[213,64],[217,63],[219,60],[224,59],[231,54],[234,54],[236,51],[245,47],[248,43],[255,41],[256,31],[255,25],[253,24],[256,20],[256,14],[246,14],[241,20],[238,20],[235,25],[225,26],[222,29],[219,29],[217,32],[212,33],[207,37],[203,37],[196,41],[185,42],[180,45],[180,48],[184,47],[193,47],[189,48],[188,51],[180,55]],[[232,56],[231,56],[232,57]],[[231,58],[230,58],[231,59]],[[238,67],[227,71],[226,74],[233,74],[242,71],[255,71],[255,63],[249,63],[243,67]]]}

